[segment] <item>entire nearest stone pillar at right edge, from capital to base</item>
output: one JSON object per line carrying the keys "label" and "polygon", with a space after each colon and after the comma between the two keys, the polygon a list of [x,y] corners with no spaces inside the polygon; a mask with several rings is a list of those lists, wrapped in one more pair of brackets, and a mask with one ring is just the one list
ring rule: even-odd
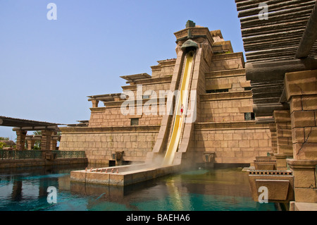
{"label": "entire nearest stone pillar at right edge, from capital to base", "polygon": [[285,74],[290,102],[294,159],[287,159],[294,175],[295,202],[317,202],[317,71]]}

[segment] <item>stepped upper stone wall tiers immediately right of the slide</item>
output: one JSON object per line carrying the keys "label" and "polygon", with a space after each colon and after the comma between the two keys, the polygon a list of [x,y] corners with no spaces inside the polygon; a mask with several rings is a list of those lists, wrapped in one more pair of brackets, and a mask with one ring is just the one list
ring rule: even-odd
{"label": "stepped upper stone wall tiers immediately right of the slide", "polygon": [[[232,69],[217,65],[237,64]],[[244,114],[253,111],[251,91],[244,70],[244,59],[240,53],[213,56],[211,71],[206,73],[206,91],[227,90],[223,93],[212,93],[201,99],[201,122],[235,122],[244,121]]]}

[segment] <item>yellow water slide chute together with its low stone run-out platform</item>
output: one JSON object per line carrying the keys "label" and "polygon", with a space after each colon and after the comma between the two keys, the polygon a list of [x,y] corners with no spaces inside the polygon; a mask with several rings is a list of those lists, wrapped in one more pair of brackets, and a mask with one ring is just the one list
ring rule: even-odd
{"label": "yellow water slide chute together with its low stone run-out platform", "polygon": [[[172,134],[168,142],[167,150],[163,163],[161,166],[154,166],[153,164],[135,164],[128,166],[111,166],[106,168],[93,169],[91,171],[80,170],[71,171],[70,179],[71,181],[84,182],[84,183],[99,183],[111,186],[128,186],[132,183],[139,183],[141,181],[147,181],[159,176],[164,176],[166,174],[173,174],[175,171],[181,169],[180,164],[173,164],[175,152],[178,151],[178,146],[180,145],[180,139],[182,138],[182,132],[185,128],[185,119],[187,113],[187,105],[189,103],[189,88],[191,81],[192,67],[194,63],[194,53],[189,51],[185,56],[185,67],[182,68],[182,78],[180,83],[180,92],[176,96],[174,121],[172,128]],[[175,71],[175,73],[177,73]],[[179,74],[177,74],[179,75]],[[183,109],[183,113],[180,112]],[[170,115],[166,115],[170,116]],[[170,121],[168,121],[170,122]],[[167,122],[167,123],[168,123]],[[167,129],[162,129],[164,135],[167,135]],[[161,131],[161,130],[160,130]],[[162,142],[157,142],[159,149],[163,150]],[[159,151],[157,151],[159,152]],[[109,173],[105,172],[109,169]],[[113,169],[117,170],[117,173],[113,173]],[[104,171],[103,171],[104,170]],[[110,176],[111,173],[111,176]],[[137,176],[132,176],[132,174],[137,174]],[[173,186],[172,186],[173,187]],[[173,187],[175,188],[175,187]]]}

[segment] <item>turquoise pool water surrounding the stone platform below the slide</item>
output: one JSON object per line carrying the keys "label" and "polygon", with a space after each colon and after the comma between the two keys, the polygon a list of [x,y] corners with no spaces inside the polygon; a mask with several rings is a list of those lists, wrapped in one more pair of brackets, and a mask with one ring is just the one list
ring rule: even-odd
{"label": "turquoise pool water surrounding the stone platform below the slide", "polygon": [[[70,182],[70,171],[85,167],[0,171],[0,211],[277,210],[251,199],[241,168],[197,169],[125,188]],[[56,188],[56,203],[47,200],[49,187]]]}

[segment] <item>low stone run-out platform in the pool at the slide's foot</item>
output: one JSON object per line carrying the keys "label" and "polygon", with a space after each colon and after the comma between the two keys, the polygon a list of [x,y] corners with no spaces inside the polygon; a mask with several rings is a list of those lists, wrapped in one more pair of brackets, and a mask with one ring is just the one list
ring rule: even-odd
{"label": "low stone run-out platform in the pool at the slide's foot", "polygon": [[175,174],[181,166],[153,166],[136,164],[129,166],[112,166],[99,169],[87,169],[70,172],[70,181],[98,183],[108,186],[128,186],[132,183],[148,181],[160,176]]}

